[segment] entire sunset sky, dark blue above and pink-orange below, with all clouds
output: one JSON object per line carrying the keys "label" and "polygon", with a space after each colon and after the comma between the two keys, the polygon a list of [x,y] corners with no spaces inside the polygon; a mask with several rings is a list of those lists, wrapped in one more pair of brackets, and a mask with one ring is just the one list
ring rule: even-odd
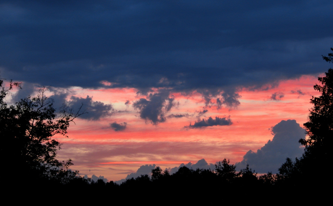
{"label": "entire sunset sky, dark blue above and pink-orange below, with all clouds", "polygon": [[[59,159],[120,180],[160,166],[258,173],[302,154],[309,99],[330,65],[330,1],[0,1],[12,103],[48,96],[81,115]],[[132,174],[135,173],[135,174]]]}

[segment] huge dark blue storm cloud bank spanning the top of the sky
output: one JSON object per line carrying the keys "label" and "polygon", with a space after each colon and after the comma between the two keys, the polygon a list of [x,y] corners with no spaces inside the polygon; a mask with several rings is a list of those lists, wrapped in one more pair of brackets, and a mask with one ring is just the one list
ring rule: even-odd
{"label": "huge dark blue storm cloud bank spanning the top of the sky", "polygon": [[205,90],[206,103],[235,107],[236,88],[326,71],[332,10],[314,0],[4,0],[0,67],[56,87]]}

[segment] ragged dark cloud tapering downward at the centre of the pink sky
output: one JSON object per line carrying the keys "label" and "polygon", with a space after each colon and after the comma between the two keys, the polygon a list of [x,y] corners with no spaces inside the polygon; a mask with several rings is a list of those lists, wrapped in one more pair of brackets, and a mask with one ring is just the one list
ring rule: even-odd
{"label": "ragged dark cloud tapering downward at the centre of the pink sky", "polygon": [[133,103],[133,107],[139,110],[140,118],[156,125],[165,122],[165,113],[175,104],[174,98],[169,97],[169,91],[161,91],[149,94],[147,99],[141,98]]}

